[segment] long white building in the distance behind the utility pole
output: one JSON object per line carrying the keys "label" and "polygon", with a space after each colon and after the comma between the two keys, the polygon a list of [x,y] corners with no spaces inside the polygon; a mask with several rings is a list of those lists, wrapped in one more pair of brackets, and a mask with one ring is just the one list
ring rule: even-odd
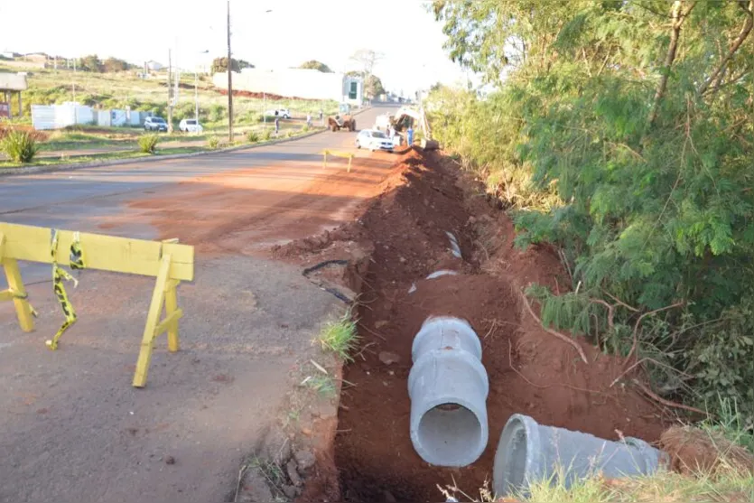
{"label": "long white building in the distance behind the utility pole", "polygon": [[[228,73],[215,73],[212,81],[215,87],[227,89]],[[361,105],[364,98],[364,85],[360,77],[300,68],[247,68],[234,72],[233,89],[285,98],[331,99],[351,105]]]}

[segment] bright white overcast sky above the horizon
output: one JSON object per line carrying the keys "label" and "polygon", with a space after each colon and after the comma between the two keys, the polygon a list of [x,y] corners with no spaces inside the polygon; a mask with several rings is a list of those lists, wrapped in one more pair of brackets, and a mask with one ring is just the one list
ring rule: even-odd
{"label": "bright white overcast sky above the horizon", "polygon": [[[438,81],[465,81],[465,72],[442,48],[442,24],[427,11],[429,3],[231,0],[233,55],[257,67],[318,60],[346,71],[356,70],[349,61],[353,52],[371,49],[383,55],[374,73],[390,91],[411,93]],[[226,0],[195,0],[193,5],[186,0],[0,0],[0,51],[66,57],[96,53],[166,64],[172,49],[173,64],[191,69],[227,51]]]}

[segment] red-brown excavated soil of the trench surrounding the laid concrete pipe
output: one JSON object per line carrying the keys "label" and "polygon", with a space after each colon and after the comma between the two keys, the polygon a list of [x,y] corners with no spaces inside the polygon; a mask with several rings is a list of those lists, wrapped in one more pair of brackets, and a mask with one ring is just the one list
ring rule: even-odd
{"label": "red-brown excavated soil of the trench surrounding the laid concrete pipe", "polygon": [[[350,384],[342,390],[335,439],[347,501],[437,501],[436,485],[452,480],[478,494],[491,479],[500,432],[514,413],[611,440],[626,435],[656,442],[663,431],[655,405],[630,387],[610,387],[621,372],[619,360],[580,341],[589,359],[583,363],[522,310],[526,284],[566,284],[559,260],[546,247],[513,248],[506,215],[475,195],[449,162],[439,154],[410,154],[361,218],[274,250],[309,265],[349,258],[341,281],[360,293],[360,348],[344,368]],[[449,232],[463,258],[452,254]],[[457,275],[424,279],[443,269]],[[409,438],[411,344],[433,314],[470,322],[489,375],[488,448],[458,470],[427,465]]]}

